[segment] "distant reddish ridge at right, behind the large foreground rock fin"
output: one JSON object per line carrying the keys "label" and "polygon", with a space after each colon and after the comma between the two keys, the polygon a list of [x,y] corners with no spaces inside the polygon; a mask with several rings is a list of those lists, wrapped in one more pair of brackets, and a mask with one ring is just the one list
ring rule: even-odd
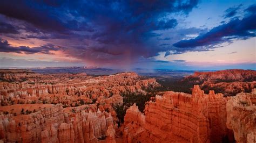
{"label": "distant reddish ridge at right, behind the large foreground rock fin", "polygon": [[195,72],[184,79],[184,82],[199,84],[205,91],[215,90],[225,96],[234,96],[239,92],[251,92],[256,88],[255,81],[255,70],[242,69]]}

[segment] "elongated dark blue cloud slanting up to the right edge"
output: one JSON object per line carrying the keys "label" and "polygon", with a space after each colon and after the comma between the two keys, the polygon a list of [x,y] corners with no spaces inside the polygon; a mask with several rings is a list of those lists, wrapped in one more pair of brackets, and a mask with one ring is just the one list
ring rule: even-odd
{"label": "elongated dark blue cloud slanting up to the right edge", "polygon": [[197,51],[207,51],[211,48],[221,47],[220,44],[224,42],[230,43],[234,39],[245,40],[255,37],[255,30],[256,14],[254,12],[242,19],[231,19],[230,22],[214,27],[205,34],[199,34],[194,39],[176,42],[173,46],[178,51],[181,51],[181,53],[193,51],[194,49]]}

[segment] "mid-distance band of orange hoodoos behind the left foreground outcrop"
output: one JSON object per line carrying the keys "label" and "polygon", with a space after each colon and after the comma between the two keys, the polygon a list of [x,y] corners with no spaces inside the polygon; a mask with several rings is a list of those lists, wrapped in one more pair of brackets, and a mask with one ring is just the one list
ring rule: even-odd
{"label": "mid-distance band of orange hoodoos behind the left foreground outcrop", "polygon": [[[12,74],[19,76],[21,73]],[[99,77],[86,74],[53,74],[45,77],[46,75],[37,74],[40,77],[38,79],[31,75],[34,73],[26,74],[28,74],[27,80],[33,82],[0,83],[2,106],[24,103],[62,103],[66,106],[71,104],[75,106],[81,103],[77,103],[81,100],[83,100],[82,103],[98,101],[106,104],[122,104],[123,98],[120,95],[122,92],[145,93],[144,89],[159,86],[156,80],[141,80],[136,73],[119,73]],[[46,82],[47,80],[52,82]]]}

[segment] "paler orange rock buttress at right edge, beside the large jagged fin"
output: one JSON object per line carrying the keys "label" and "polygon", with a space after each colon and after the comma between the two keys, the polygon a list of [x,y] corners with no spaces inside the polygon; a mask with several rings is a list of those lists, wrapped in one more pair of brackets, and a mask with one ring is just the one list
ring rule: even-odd
{"label": "paler orange rock buttress at right edge, beside the large jagged fin", "polygon": [[256,142],[256,90],[240,93],[227,101],[227,127],[237,142]]}

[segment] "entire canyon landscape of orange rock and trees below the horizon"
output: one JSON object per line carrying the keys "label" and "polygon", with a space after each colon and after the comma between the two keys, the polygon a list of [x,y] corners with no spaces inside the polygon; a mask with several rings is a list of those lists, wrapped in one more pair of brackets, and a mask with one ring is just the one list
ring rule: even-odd
{"label": "entire canyon landscape of orange rock and trees below the horizon", "polygon": [[256,142],[255,70],[73,70],[1,69],[0,142]]}

